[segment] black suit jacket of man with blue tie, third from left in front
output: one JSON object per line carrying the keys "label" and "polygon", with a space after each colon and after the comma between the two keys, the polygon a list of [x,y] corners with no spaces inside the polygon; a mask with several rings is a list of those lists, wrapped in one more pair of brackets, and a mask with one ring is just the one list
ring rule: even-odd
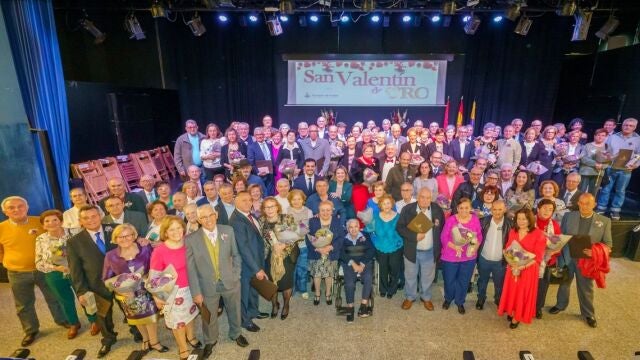
{"label": "black suit jacket of man with blue tie, third from left in front", "polygon": [[[111,243],[111,232],[114,228],[114,224],[102,226],[105,253],[117,247],[117,245]],[[69,239],[67,242],[67,260],[69,261],[71,285],[77,296],[84,295],[87,291],[92,291],[106,300],[111,300],[112,293],[102,280],[104,254],[100,252],[87,230],[82,230]]]}

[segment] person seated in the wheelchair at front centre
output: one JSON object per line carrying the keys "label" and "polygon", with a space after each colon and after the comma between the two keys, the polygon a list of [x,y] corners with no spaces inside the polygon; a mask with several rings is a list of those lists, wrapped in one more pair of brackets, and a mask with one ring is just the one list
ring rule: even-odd
{"label": "person seated in the wheelchair at front centre", "polygon": [[347,221],[347,235],[344,237],[340,263],[344,272],[344,288],[347,297],[347,322],[353,322],[354,297],[356,282],[362,280],[362,300],[358,309],[358,317],[367,317],[372,313],[371,291],[373,289],[373,258],[375,247],[368,235],[360,232],[360,223],[357,219]]}

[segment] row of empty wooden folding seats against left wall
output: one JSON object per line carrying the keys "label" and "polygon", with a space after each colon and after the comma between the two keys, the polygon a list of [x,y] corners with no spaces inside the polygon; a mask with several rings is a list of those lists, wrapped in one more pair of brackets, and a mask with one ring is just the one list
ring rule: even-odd
{"label": "row of empty wooden folding seats against left wall", "polygon": [[105,157],[71,164],[71,174],[82,180],[89,200],[97,203],[109,194],[107,182],[112,178],[124,180],[127,191],[140,187],[140,177],[151,175],[156,181],[176,177],[176,165],[169,146],[134,152],[128,155]]}

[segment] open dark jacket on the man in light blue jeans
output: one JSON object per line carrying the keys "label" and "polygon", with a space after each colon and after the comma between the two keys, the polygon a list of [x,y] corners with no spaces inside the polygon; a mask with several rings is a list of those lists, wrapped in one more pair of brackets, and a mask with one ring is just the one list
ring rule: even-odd
{"label": "open dark jacket on the man in light blue jeans", "polygon": [[[407,225],[416,217],[417,211],[417,202],[405,205],[396,224],[396,230],[404,240],[404,257],[412,263],[416,262],[418,234],[407,229]],[[431,222],[433,223],[433,228],[431,228],[433,232],[433,261],[437,264],[440,261],[440,234],[444,226],[444,212],[435,202],[431,203]]]}

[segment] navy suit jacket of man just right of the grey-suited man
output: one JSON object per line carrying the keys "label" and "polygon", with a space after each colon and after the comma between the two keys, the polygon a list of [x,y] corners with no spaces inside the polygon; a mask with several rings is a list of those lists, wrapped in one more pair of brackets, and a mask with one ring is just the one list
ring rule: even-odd
{"label": "navy suit jacket of man just right of the grey-suited man", "polygon": [[264,240],[260,230],[237,209],[231,214],[229,225],[233,227],[238,251],[242,257],[242,277],[248,281],[264,269]]}

